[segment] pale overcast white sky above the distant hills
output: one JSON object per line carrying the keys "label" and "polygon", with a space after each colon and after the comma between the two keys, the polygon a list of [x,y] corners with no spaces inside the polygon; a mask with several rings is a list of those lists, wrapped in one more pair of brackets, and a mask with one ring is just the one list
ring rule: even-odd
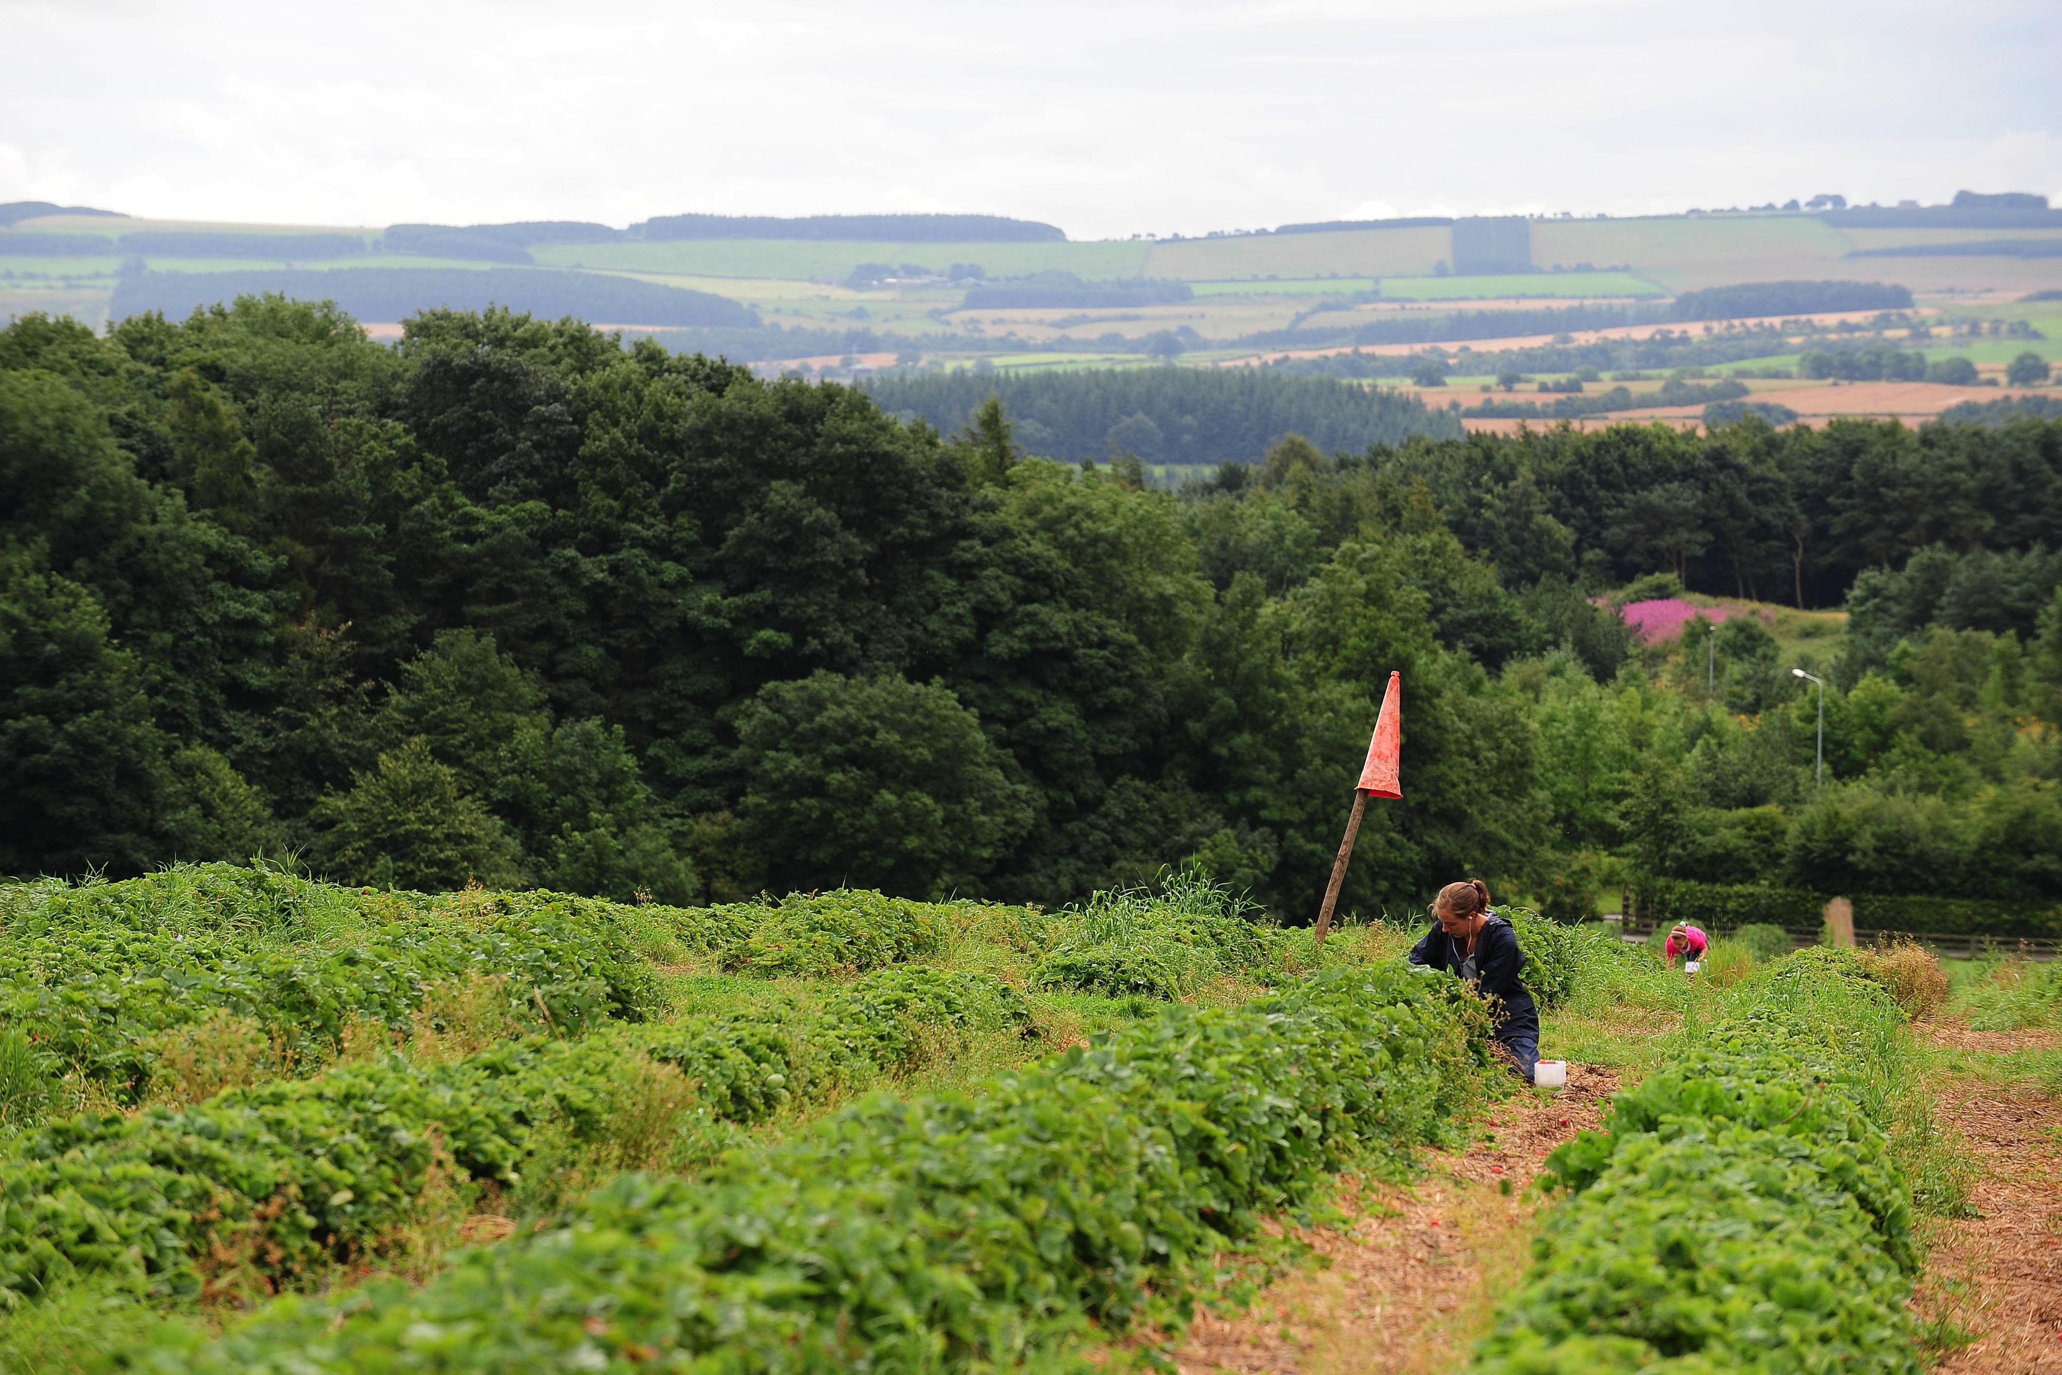
{"label": "pale overcast white sky above the distant hills", "polygon": [[2062,204],[2058,0],[0,0],[0,200],[1083,237],[1815,192]]}

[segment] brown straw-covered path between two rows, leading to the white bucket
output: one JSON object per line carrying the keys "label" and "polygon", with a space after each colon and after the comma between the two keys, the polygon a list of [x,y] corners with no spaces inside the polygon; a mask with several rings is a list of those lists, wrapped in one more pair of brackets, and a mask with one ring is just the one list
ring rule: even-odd
{"label": "brown straw-covered path between two rows, leading to the white bucket", "polygon": [[1351,1227],[1309,1231],[1326,1257],[1268,1284],[1237,1317],[1202,1315],[1177,1356],[1184,1375],[1431,1373],[1458,1367],[1497,1297],[1524,1270],[1540,1161],[1602,1124],[1612,1070],[1569,1066],[1555,1097],[1524,1091],[1487,1119],[1489,1138],[1431,1156],[1415,1185],[1340,1196]]}

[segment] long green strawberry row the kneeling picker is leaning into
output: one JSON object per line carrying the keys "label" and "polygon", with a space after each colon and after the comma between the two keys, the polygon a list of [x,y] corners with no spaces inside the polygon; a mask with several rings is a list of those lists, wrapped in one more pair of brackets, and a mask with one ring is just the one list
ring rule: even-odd
{"label": "long green strawberry row the kneeling picker is leaning into", "polygon": [[627,1175],[427,1286],[285,1299],[157,1371],[944,1371],[1091,1321],[1177,1330],[1210,1257],[1361,1163],[1439,1140],[1483,1004],[1396,967],[1173,1006],[975,1095],[876,1095],[709,1177]]}

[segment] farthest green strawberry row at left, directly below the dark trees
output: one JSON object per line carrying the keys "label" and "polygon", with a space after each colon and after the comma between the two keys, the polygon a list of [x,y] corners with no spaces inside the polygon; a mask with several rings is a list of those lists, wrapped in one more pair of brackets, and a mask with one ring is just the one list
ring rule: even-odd
{"label": "farthest green strawberry row at left, directly below the dark trees", "polygon": [[495,977],[505,1012],[540,1033],[641,1020],[660,1000],[639,932],[736,973],[823,975],[938,954],[953,919],[953,907],[856,891],[635,909],[557,893],[369,893],[229,864],[6,884],[0,1025],[136,1103],[153,1037],[217,1014],[256,1020],[276,1058],[313,1070],[351,1020],[406,1031],[437,985],[474,975]]}

